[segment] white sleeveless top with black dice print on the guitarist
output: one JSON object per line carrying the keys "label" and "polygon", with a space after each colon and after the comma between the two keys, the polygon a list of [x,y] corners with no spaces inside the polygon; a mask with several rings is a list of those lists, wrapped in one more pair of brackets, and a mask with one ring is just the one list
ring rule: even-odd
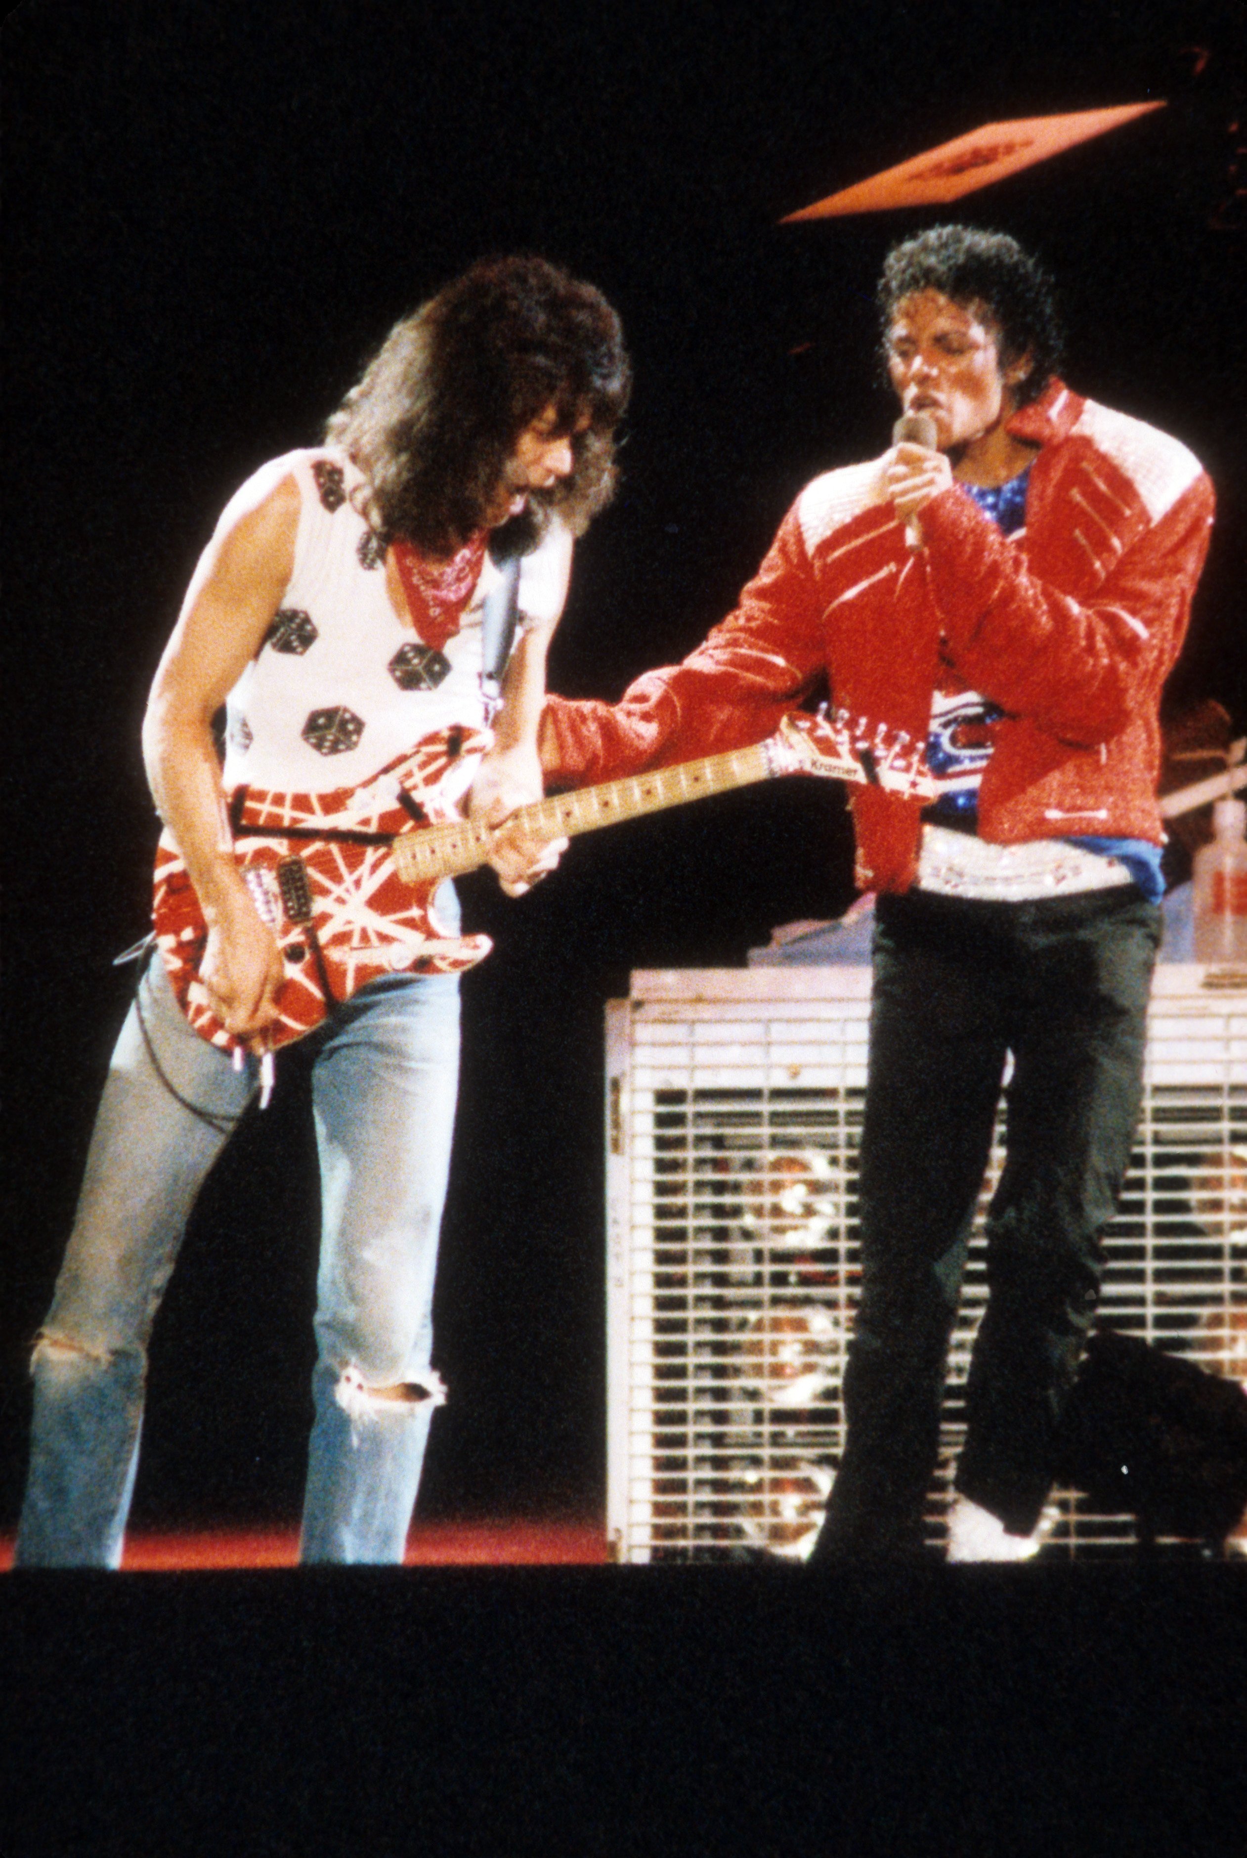
{"label": "white sleeveless top with black dice print on the guitarist", "polygon": [[[353,788],[422,736],[483,726],[481,608],[498,580],[489,556],[459,632],[435,650],[390,602],[385,557],[353,502],[364,479],[346,453],[290,451],[264,466],[269,483],[282,476],[301,502],[294,574],[227,699],[225,786]],[[524,557],[520,626],[559,617],[571,554],[569,530],[554,522]]]}

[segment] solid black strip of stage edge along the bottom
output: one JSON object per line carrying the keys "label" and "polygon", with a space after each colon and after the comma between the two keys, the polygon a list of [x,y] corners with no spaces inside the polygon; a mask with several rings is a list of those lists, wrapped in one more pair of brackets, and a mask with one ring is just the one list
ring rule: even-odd
{"label": "solid black strip of stage edge along the bottom", "polygon": [[15,1574],[7,1858],[1247,1851],[1247,1568]]}

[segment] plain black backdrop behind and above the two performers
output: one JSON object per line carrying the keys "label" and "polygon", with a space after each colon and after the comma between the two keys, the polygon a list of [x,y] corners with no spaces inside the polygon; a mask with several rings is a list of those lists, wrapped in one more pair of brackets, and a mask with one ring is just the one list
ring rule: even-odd
{"label": "plain black backdrop behind and above the two performers", "polygon": [[[1031,243],[1067,375],[1184,438],[1221,515],[1175,697],[1247,725],[1247,110],[1236,0],[401,6],[45,0],[7,39],[7,678],[0,1525],[26,1353],[125,1013],[156,838],[138,730],[230,491],[314,442],[390,323],[532,249],[623,314],[623,487],[578,550],[552,687],[617,695],[732,604],[805,479],[879,451],[872,288],[935,217]],[[1011,115],[1169,108],[935,214],[782,214]],[[604,1473],[602,1001],[738,964],[851,897],[836,788],[580,840],[465,983],[422,1514],[593,1514]],[[284,1520],[310,1401],[297,1048],[210,1180],[152,1349],[136,1524]]]}

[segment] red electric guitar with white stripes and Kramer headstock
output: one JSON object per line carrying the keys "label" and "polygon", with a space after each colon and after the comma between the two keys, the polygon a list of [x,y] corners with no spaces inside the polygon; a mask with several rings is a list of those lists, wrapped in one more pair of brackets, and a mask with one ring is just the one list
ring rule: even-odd
{"label": "red electric guitar with white stripes and Kramer headstock", "polygon": [[[279,940],[286,981],[269,1048],[290,1044],[366,981],[387,974],[453,974],[481,961],[491,940],[455,936],[437,920],[433,894],[444,877],[476,871],[489,858],[489,827],[461,818],[466,760],[489,736],[450,728],[427,736],[359,788],[279,793],[238,788],[229,803],[234,853],[255,905]],[[617,819],[680,806],[729,788],[781,775],[872,782],[929,797],[933,786],[907,741],[864,739],[821,717],[794,713],[751,749],[628,775],[522,806],[513,821],[539,838],[571,838]],[[232,1050],[199,979],[208,931],[178,849],[165,831],[156,849],[156,944],[188,1020]]]}

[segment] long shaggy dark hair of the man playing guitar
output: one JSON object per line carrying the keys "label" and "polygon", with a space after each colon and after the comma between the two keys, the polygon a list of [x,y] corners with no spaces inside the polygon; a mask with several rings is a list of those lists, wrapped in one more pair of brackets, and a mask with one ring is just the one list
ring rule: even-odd
{"label": "long shaggy dark hair of the man playing guitar", "polygon": [[574,464],[507,524],[522,550],[554,511],[580,535],[610,502],[630,386],[600,290],[545,258],[481,258],[394,325],[325,440],[364,472],[362,513],[381,537],[446,556],[485,526],[518,435],[554,405]]}

